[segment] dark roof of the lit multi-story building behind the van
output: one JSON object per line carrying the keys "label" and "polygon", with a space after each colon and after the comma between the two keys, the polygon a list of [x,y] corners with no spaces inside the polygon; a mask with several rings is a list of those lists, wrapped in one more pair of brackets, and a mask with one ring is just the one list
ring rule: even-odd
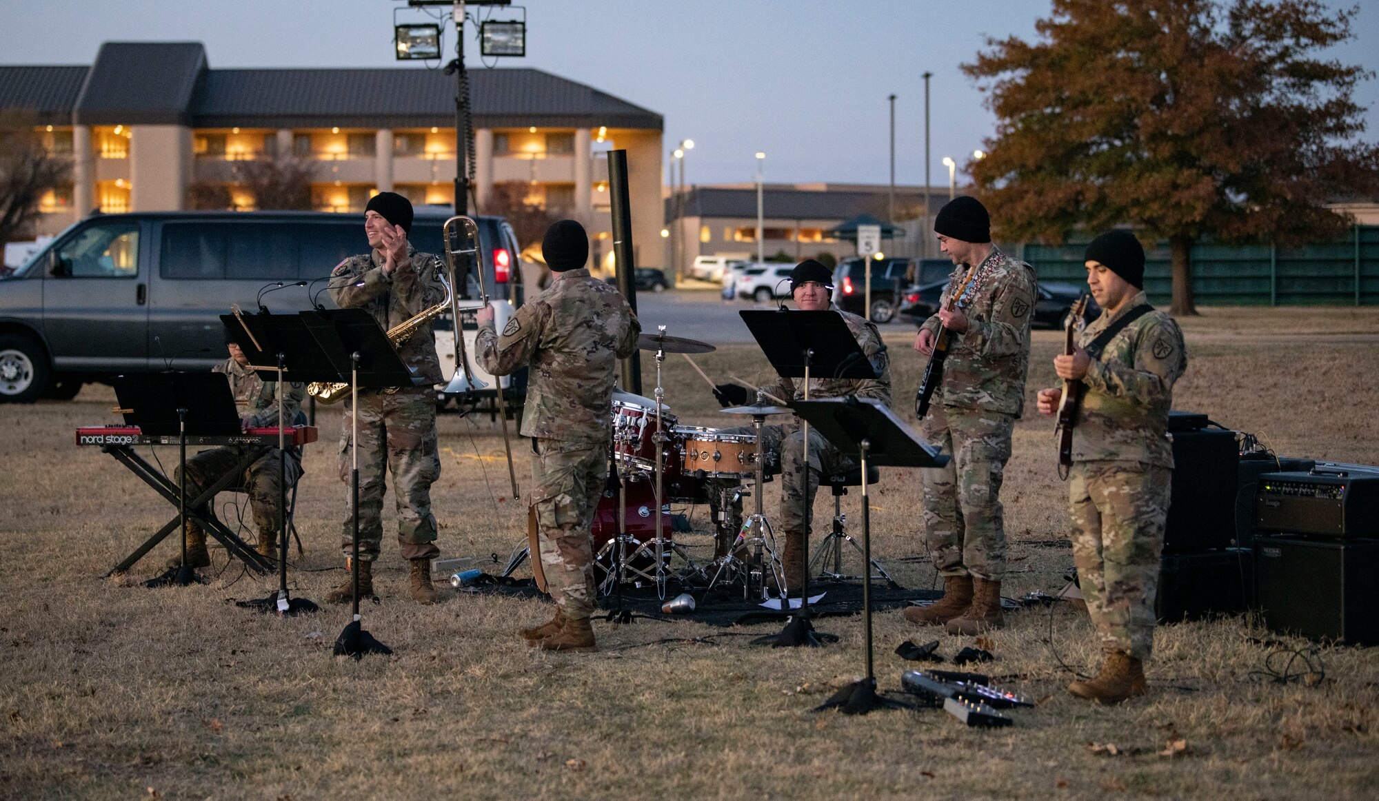
{"label": "dark roof of the lit multi-story building behind the van", "polygon": [[[661,114],[538,69],[469,69],[474,125],[663,128]],[[108,41],[95,65],[0,66],[0,109],[44,123],[193,127],[455,124],[440,69],[210,69],[196,41]]]}

